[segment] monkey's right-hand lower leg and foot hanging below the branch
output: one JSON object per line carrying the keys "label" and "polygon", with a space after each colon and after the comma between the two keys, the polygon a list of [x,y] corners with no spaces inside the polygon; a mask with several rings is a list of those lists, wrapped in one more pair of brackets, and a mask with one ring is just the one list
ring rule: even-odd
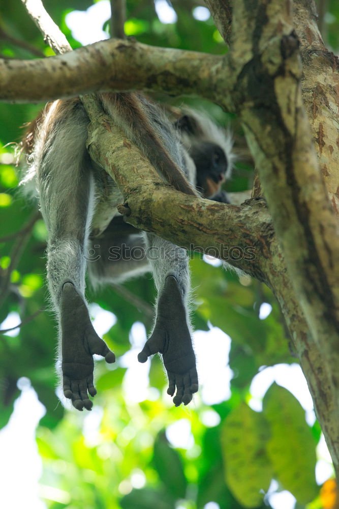
{"label": "monkey's right-hand lower leg and foot hanging below the branch", "polygon": [[190,287],[187,252],[159,237],[146,234],[148,257],[158,289],[157,319],[153,332],[139,353],[140,362],[157,352],[163,356],[175,406],[187,405],[198,390],[196,359],[192,346],[187,298]]}

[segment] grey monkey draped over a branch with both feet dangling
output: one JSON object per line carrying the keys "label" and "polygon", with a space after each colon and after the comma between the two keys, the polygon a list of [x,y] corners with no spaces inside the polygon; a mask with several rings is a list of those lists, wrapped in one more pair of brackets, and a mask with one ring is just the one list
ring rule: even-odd
{"label": "grey monkey draped over a branch with both feet dangling", "polygon": [[[231,172],[232,144],[211,121],[188,111],[172,125],[160,107],[140,94],[105,93],[98,98],[105,114],[170,184],[196,196],[197,188],[205,197],[228,203],[221,184]],[[78,98],[57,100],[35,121],[25,144],[28,164],[22,184],[27,192],[38,194],[48,231],[47,281],[59,324],[57,372],[64,396],[77,410],[91,410],[89,395],[97,393],[93,355],[115,361],[89,318],[86,266],[94,288],[150,268],[158,295],[156,318],[138,360],[162,354],[167,393],[174,396],[175,406],[187,405],[198,390],[187,251],[133,227],[123,232],[116,211],[123,197],[113,179],[90,159],[88,123]],[[91,260],[87,254],[98,245],[99,256]],[[122,250],[131,252],[140,245],[146,256],[126,263]],[[118,259],[111,256],[112,247],[119,251]],[[158,256],[149,256],[150,252]]]}

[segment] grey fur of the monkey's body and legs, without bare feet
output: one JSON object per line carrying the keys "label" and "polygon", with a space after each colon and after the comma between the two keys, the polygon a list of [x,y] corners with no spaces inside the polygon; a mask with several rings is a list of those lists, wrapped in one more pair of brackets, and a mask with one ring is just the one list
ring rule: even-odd
{"label": "grey fur of the monkey's body and legs, without bare feet", "polygon": [[[121,95],[104,94],[100,97],[106,113],[124,130],[126,136],[144,152],[156,168],[157,150],[154,147],[150,149],[145,142],[149,130],[155,133],[163,150],[181,168],[182,173],[193,185],[196,184],[195,163],[190,156],[193,135],[183,134],[181,144],[177,132],[163,112],[142,96],[131,96],[138,99],[140,118],[144,122],[140,129],[135,125],[133,101],[131,112],[129,112],[124,101],[121,102]],[[201,128],[201,139],[207,141],[211,139],[224,150],[228,160],[227,175],[229,176],[233,161],[231,137],[229,135],[225,137],[207,117],[192,111],[189,114],[194,116]],[[26,186],[27,192],[39,197],[41,212],[48,230],[48,286],[59,321],[65,281],[71,281],[84,303],[86,302],[84,295],[86,265],[94,287],[110,281],[121,281],[151,269],[158,291],[157,306],[159,296],[165,288],[166,278],[171,275],[175,277],[186,309],[188,330],[191,331],[187,312],[190,273],[186,250],[155,235],[137,231],[120,238],[118,235],[111,237],[107,230],[99,232],[101,235],[98,235],[98,238],[89,240],[90,233],[96,225],[97,214],[100,214],[100,204],[105,196],[103,178],[105,178],[106,190],[107,182],[110,189],[109,210],[112,211],[112,217],[117,214],[115,207],[122,202],[122,195],[114,181],[106,174],[103,177],[103,171],[90,160],[86,151],[87,125],[87,115],[78,100],[55,101],[46,109],[38,124],[34,150],[27,158],[28,165],[21,182]],[[158,171],[161,173],[161,168],[158,168]],[[109,220],[110,218],[108,222]],[[131,249],[139,245],[145,250],[145,256],[140,260],[114,261],[108,255],[112,245],[121,249]],[[89,250],[95,251],[98,246],[99,259],[90,261]],[[61,337],[61,332],[59,336]],[[59,359],[57,366],[60,366],[60,363]],[[173,374],[172,377],[174,380]],[[195,392],[197,384],[194,382],[192,384],[192,387],[196,387],[192,389],[192,392]],[[175,398],[178,402],[175,404],[180,404],[181,401],[187,404],[190,401],[187,394],[186,400],[180,395],[178,397],[178,393]],[[72,401],[74,403],[73,397]],[[89,400],[86,401],[88,405],[84,407],[90,409]],[[82,409],[81,405],[76,408]]]}

